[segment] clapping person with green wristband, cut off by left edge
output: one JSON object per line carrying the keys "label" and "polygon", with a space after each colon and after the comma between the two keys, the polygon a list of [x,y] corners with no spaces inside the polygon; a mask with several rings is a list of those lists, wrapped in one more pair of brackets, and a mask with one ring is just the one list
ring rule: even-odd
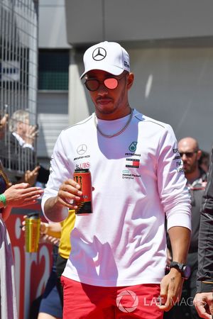
{"label": "clapping person with green wristband, cut off by left edge", "polygon": [[4,221],[9,217],[12,207],[33,204],[43,194],[40,187],[29,187],[21,183],[9,187],[0,160],[0,318],[18,319],[14,281],[13,254],[9,233]]}

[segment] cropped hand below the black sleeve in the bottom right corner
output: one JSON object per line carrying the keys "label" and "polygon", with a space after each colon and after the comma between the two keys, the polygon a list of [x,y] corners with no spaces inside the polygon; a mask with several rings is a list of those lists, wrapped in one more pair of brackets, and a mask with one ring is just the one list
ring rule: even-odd
{"label": "cropped hand below the black sleeve in the bottom right corner", "polygon": [[213,293],[197,293],[193,301],[200,318],[213,318]]}

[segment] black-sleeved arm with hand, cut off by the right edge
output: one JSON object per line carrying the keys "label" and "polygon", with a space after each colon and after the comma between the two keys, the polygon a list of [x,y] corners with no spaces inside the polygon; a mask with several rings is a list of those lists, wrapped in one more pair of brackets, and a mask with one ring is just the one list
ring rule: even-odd
{"label": "black-sleeved arm with hand, cut off by the right edge", "polygon": [[198,240],[197,294],[195,308],[201,318],[213,315],[213,148],[204,191]]}

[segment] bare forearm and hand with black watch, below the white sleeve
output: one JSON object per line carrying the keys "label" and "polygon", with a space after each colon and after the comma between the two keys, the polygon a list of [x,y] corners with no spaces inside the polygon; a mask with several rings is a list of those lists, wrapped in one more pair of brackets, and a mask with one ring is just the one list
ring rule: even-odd
{"label": "bare forearm and hand with black watch, below the white sleeve", "polygon": [[[180,226],[172,227],[168,233],[173,251],[173,261],[185,264],[190,247],[190,229]],[[160,308],[162,310],[170,310],[180,299],[183,280],[180,272],[175,268],[170,269],[170,272],[164,276],[160,284],[160,297],[163,303]]]}

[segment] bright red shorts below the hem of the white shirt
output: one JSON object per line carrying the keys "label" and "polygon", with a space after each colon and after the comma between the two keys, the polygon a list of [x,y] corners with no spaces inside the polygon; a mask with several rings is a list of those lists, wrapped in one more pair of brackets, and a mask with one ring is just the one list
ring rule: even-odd
{"label": "bright red shorts below the hem of the white shirt", "polygon": [[63,319],[162,319],[157,306],[159,284],[102,287],[61,276],[64,289]]}

